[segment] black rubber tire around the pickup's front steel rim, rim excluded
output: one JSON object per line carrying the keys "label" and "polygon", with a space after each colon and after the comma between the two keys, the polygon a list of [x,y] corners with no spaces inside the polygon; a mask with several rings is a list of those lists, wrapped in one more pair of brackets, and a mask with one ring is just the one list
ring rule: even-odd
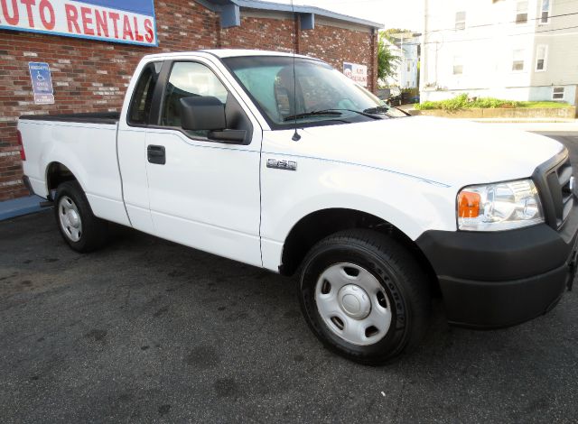
{"label": "black rubber tire around the pickup's front steel rim, rim excluded", "polygon": [[[388,297],[387,309],[384,310],[388,310],[390,325],[387,332],[384,329],[385,336],[375,343],[359,346],[345,340],[338,334],[339,326],[331,329],[331,322],[326,321],[327,317],[322,318],[318,308],[318,281],[319,284],[325,284],[327,281],[321,281],[324,272],[328,272],[331,267],[344,266],[344,263],[354,264],[362,268],[363,272],[367,271],[369,279],[371,276],[375,277],[381,286],[377,290],[382,291],[383,288]],[[347,265],[343,269],[345,268]],[[312,332],[327,348],[360,364],[380,365],[419,344],[428,327],[431,309],[429,287],[429,281],[420,264],[403,244],[375,231],[357,229],[330,235],[312,247],[303,261],[299,292],[303,315]],[[368,291],[368,298],[371,299],[372,296]],[[382,295],[378,294],[376,298],[379,296]],[[339,310],[345,314],[344,299],[341,299]],[[377,309],[373,306],[375,300],[369,302],[372,309]],[[337,319],[338,321],[333,322],[339,324],[339,318]],[[360,324],[360,327],[363,325]],[[387,326],[384,324],[385,327]],[[368,329],[361,334],[367,336]]]}

